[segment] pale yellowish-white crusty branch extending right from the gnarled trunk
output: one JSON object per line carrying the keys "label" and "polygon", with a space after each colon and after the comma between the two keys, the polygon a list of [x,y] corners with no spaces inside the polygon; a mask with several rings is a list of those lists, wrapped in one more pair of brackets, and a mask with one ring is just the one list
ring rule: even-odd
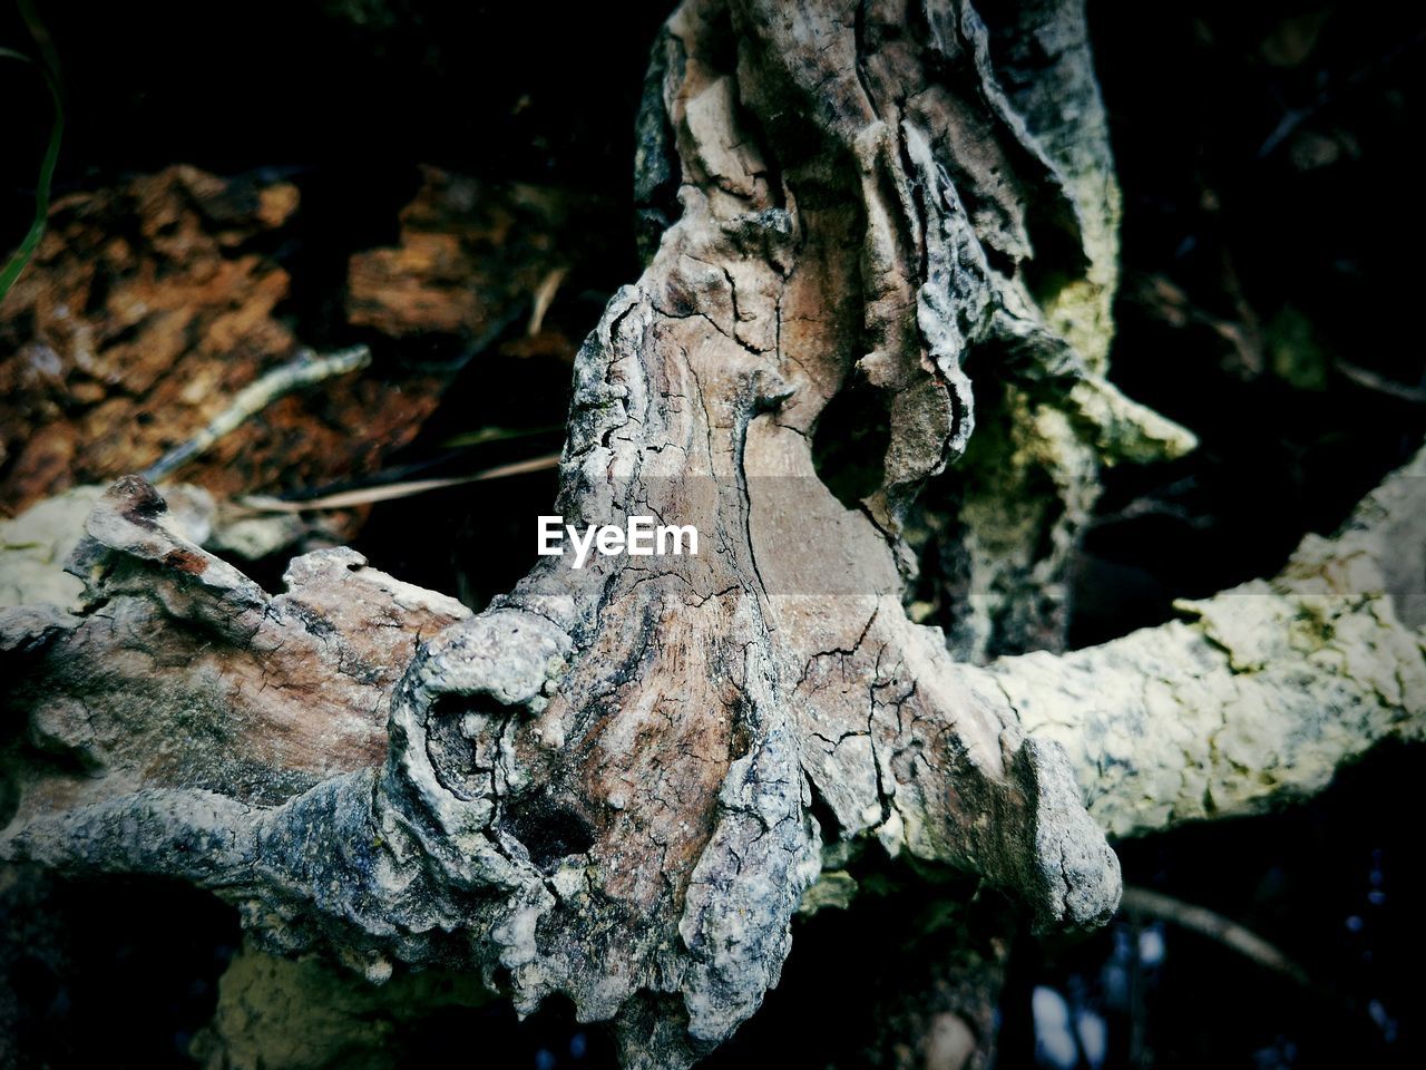
{"label": "pale yellowish-white crusty branch extending right from the gnarled trunk", "polygon": [[1316,792],[1378,740],[1426,735],[1426,639],[1397,612],[1426,579],[1423,472],[1426,451],[1336,539],[1309,535],[1275,581],[1181,602],[1186,619],[1102,646],[988,672],[1028,732],[1065,748],[1111,835]]}

